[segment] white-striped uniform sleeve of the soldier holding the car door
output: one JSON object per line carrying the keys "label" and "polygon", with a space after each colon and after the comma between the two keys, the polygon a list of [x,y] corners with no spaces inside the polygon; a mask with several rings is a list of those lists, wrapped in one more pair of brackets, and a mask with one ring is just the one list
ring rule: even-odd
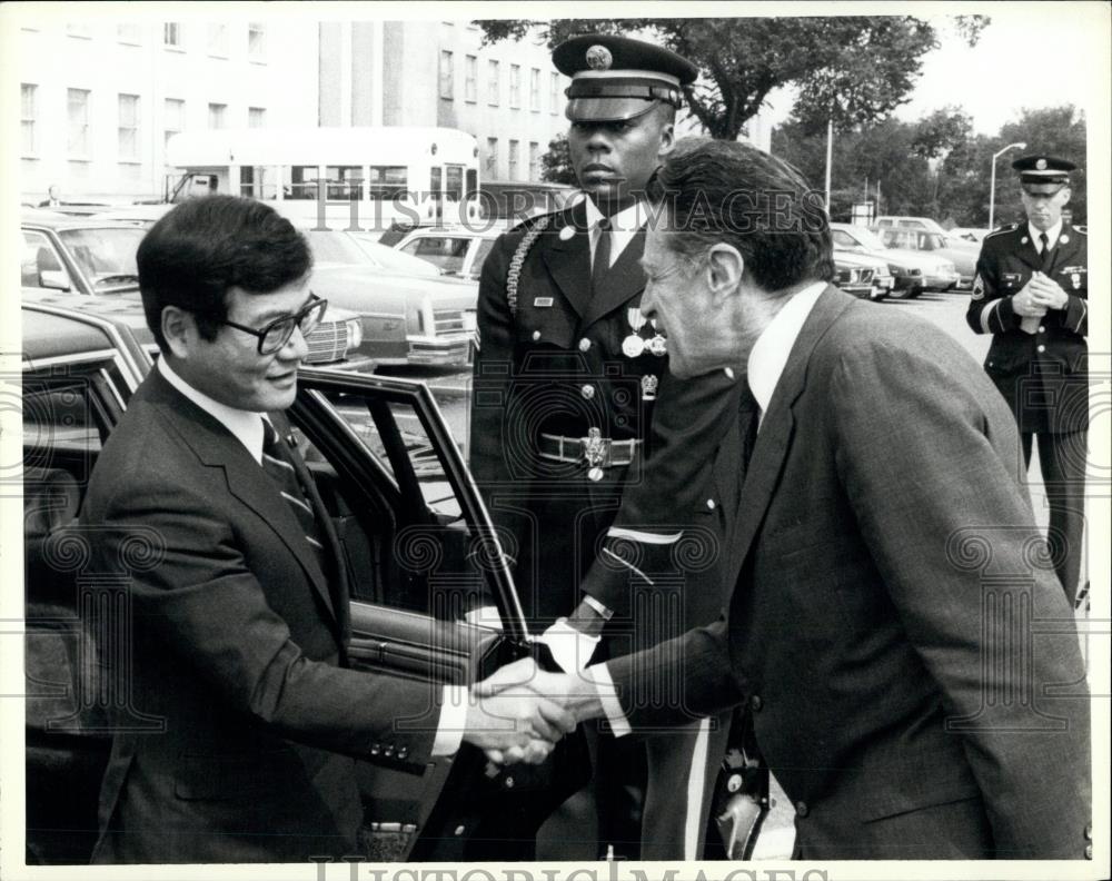
{"label": "white-striped uniform sleeve of the soldier holding the car door", "polygon": [[741,389],[722,370],[692,379],[665,374],[653,410],[649,454],[623,485],[622,506],[582,585],[618,617],[629,616],[634,591],[652,591],[658,582],[713,594],[683,604],[703,610],[701,620],[684,624],[675,616],[654,616],[661,630],[651,642],[706,624],[721,607],[724,536],[733,506],[712,474],[715,457],[736,429]]}

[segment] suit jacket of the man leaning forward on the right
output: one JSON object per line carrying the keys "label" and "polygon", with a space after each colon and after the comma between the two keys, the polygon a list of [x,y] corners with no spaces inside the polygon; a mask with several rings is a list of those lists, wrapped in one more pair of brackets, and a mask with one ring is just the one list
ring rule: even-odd
{"label": "suit jacket of the man leaning forward on the right", "polygon": [[610,662],[631,722],[675,713],[629,697],[669,664],[689,706],[747,701],[804,859],[1082,858],[1084,667],[1017,448],[954,340],[827,288],[744,476],[728,612]]}

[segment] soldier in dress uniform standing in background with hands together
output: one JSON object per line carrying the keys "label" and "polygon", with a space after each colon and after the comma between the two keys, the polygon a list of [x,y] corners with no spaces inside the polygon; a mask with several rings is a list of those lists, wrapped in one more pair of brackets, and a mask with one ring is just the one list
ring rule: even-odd
{"label": "soldier in dress uniform standing in background with hands together", "polygon": [[1027,220],[985,237],[966,313],[974,333],[992,334],[984,368],[1015,414],[1027,463],[1037,437],[1048,540],[1071,602],[1081,572],[1089,434],[1088,236],[1062,218],[1074,167],[1044,155],[1012,162]]}

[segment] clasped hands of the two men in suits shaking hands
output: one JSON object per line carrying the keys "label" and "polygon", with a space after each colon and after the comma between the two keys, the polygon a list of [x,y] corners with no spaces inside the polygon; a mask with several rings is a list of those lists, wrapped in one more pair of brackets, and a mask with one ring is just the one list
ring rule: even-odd
{"label": "clasped hands of the two men in suits shaking hands", "polygon": [[575,731],[575,716],[564,706],[563,679],[528,657],[497,670],[469,692],[464,740],[497,764],[540,764],[560,738]]}

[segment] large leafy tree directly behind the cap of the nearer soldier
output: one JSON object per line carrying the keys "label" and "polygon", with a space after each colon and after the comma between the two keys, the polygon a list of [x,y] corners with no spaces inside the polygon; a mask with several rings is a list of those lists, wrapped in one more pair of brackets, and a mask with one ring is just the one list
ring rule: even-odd
{"label": "large leafy tree directly behind the cap of the nearer soldier", "polygon": [[[955,17],[971,46],[987,23]],[[575,33],[651,32],[689,58],[702,76],[684,88],[692,112],[714,138],[736,139],[770,92],[798,88],[796,116],[808,128],[840,129],[880,119],[907,100],[935,27],[911,16],[828,18],[479,20],[484,43],[535,34],[555,47]]]}

